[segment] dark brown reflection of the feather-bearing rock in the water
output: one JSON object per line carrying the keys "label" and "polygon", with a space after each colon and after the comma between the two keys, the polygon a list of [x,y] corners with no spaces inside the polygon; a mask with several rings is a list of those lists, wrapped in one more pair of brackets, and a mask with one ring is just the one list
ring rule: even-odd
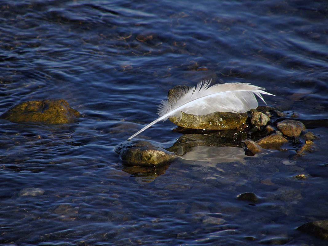
{"label": "dark brown reflection of the feather-bearing rock in the water", "polygon": [[245,139],[247,133],[239,131],[220,131],[217,133],[208,134],[184,134],[174,143],[173,146],[166,149],[174,152],[177,155],[184,155],[191,151],[195,146],[232,146],[241,147],[241,142]]}

